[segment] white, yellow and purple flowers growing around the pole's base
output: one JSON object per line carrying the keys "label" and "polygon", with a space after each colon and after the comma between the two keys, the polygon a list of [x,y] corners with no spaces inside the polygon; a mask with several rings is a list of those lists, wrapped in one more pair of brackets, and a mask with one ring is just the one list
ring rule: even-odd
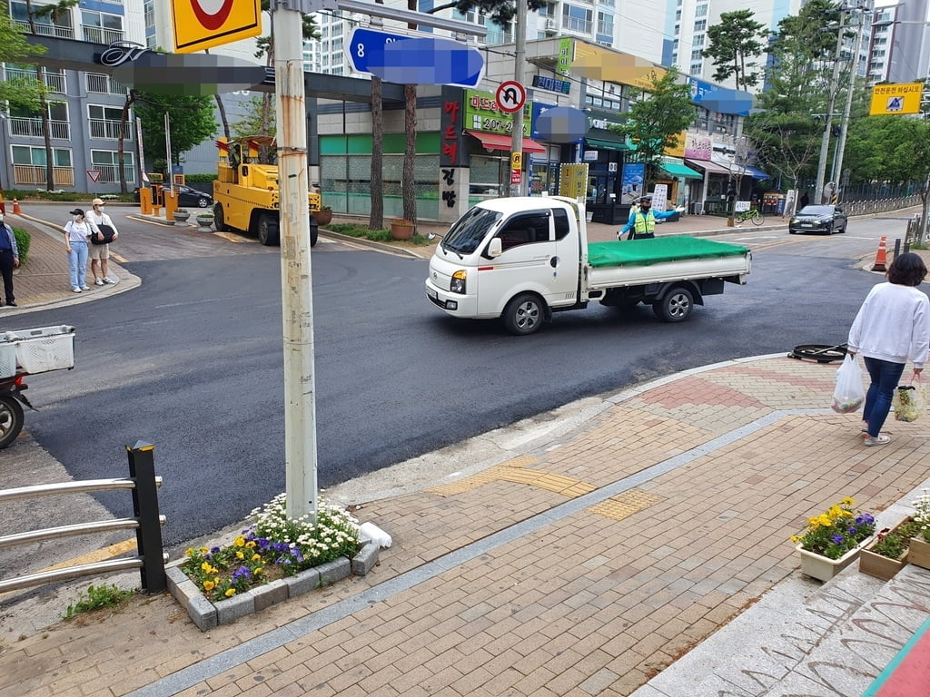
{"label": "white, yellow and purple flowers growing around the pole's base", "polygon": [[249,515],[254,522],[228,546],[189,548],[181,565],[206,598],[232,598],[249,588],[294,575],[358,551],[358,521],[339,506],[317,505],[309,516],[287,518],[286,496]]}

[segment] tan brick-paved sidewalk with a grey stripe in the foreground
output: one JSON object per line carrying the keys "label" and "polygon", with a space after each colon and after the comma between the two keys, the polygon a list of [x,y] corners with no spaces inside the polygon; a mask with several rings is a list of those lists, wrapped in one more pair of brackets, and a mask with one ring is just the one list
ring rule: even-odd
{"label": "tan brick-paved sidewalk with a grey stripe in the foreground", "polygon": [[927,479],[922,422],[863,447],[858,416],[825,409],[835,370],[725,362],[605,399],[365,503],[394,543],[365,577],[207,633],[158,597],[3,638],[0,694],[629,695],[779,582],[817,587],[789,541],[812,511],[880,511]]}

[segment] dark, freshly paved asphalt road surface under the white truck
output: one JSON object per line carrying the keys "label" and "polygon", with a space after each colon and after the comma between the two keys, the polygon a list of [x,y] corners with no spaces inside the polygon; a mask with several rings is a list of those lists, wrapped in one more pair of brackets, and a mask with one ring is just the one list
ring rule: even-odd
{"label": "dark, freshly paved asphalt road surface under the white truck", "polygon": [[[181,249],[170,230],[118,224],[140,288],[18,318],[77,328],[75,369],[29,379],[41,412],[26,427],[75,479],[126,476],[124,446],[154,443],[165,540],[179,544],[285,488],[280,263],[255,243],[205,236]],[[854,219],[832,237],[735,230],[719,239],[751,246],[749,283],[727,284],[688,322],[591,305],[526,337],[433,308],[426,260],[321,239],[312,255],[320,485],[660,375],[841,343],[882,280],[856,260],[900,230],[893,219]],[[125,493],[98,500],[131,514]]]}

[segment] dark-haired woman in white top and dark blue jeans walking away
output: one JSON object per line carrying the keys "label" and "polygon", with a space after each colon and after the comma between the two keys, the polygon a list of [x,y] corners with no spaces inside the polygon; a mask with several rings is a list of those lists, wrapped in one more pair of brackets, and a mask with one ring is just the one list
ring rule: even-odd
{"label": "dark-haired woman in white top and dark blue jeans walking away", "polygon": [[849,329],[848,351],[862,354],[871,384],[862,413],[866,445],[884,445],[882,433],[904,364],[913,363],[912,379],[919,379],[930,349],[930,300],[918,290],[927,275],[923,259],[908,252],[888,267],[888,282],[878,283],[866,296]]}

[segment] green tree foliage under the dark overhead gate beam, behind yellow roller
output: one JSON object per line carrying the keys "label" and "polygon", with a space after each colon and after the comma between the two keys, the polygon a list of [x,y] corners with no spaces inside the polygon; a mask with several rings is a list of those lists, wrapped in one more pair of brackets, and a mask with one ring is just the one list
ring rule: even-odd
{"label": "green tree foliage under the dark overhead gate beam, behind yellow roller", "polygon": [[159,95],[137,92],[136,115],[142,120],[147,156],[166,160],[165,114],[171,126],[170,164],[180,164],[180,154],[211,138],[217,131],[213,98],[194,95]]}

